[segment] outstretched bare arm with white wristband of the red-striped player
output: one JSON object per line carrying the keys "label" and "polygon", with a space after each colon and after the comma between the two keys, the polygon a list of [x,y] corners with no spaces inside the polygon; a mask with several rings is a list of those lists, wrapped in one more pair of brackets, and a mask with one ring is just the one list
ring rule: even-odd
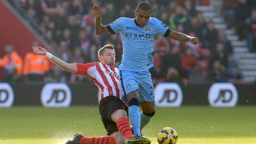
{"label": "outstretched bare arm with white wristband of the red-striped player", "polygon": [[69,71],[69,72],[77,72],[78,68],[76,66],[76,63],[66,63],[63,60],[55,57],[51,53],[47,52],[46,49],[40,47],[40,46],[33,46],[32,47],[33,52],[38,55],[44,55],[50,60],[52,60],[53,63],[55,63],[57,66],[61,67],[62,69]]}

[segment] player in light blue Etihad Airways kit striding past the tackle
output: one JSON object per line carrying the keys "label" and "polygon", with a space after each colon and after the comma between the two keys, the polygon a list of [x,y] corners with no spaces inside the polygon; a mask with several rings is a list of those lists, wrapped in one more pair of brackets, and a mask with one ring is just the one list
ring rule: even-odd
{"label": "player in light blue Etihad Airways kit striding past the tackle", "polygon": [[[152,8],[147,2],[138,4],[135,18],[120,17],[109,25],[101,23],[102,12],[94,4],[95,33],[105,35],[121,32],[122,63],[119,66],[119,83],[122,86],[123,100],[128,102],[129,117],[135,136],[141,136],[141,130],[155,114],[154,86],[148,69],[153,66],[153,41],[157,35],[169,37],[181,42],[190,41],[197,45],[198,37],[175,32],[155,17],[151,17]],[[140,112],[140,107],[142,112]],[[129,143],[129,139],[126,144]]]}

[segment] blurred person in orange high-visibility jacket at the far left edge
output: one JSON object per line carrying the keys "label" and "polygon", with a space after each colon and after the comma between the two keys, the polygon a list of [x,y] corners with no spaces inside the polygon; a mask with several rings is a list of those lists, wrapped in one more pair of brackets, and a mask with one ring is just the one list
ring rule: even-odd
{"label": "blurred person in orange high-visibility jacket at the far left edge", "polygon": [[0,67],[4,68],[5,71],[5,77],[8,75],[12,75],[12,72],[17,73],[17,75],[22,75],[22,65],[23,60],[18,55],[18,53],[14,50],[12,45],[5,46],[5,52],[6,55],[3,56],[2,59],[0,59]]}

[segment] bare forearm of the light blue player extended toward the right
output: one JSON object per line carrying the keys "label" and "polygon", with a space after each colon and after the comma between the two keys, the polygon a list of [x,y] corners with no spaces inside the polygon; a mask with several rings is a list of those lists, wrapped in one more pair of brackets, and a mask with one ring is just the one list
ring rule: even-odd
{"label": "bare forearm of the light blue player extended toward the right", "polygon": [[198,44],[198,41],[199,41],[198,37],[190,37],[189,35],[183,34],[181,32],[175,32],[175,31],[170,32],[168,37],[181,42],[190,41],[195,46]]}

